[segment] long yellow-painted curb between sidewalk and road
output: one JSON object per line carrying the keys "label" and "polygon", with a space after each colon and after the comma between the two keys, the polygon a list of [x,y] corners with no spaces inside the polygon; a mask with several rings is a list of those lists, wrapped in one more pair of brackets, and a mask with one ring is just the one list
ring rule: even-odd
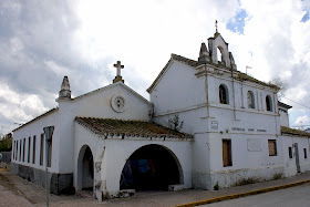
{"label": "long yellow-painted curb between sidewalk and road", "polygon": [[278,189],[285,189],[285,188],[289,188],[289,187],[293,187],[293,186],[303,185],[307,183],[310,183],[310,179],[307,179],[303,182],[297,182],[297,183],[292,183],[292,184],[287,184],[287,185],[282,185],[282,186],[268,187],[268,188],[256,189],[256,190],[240,193],[240,194],[231,194],[231,195],[210,198],[210,199],[206,199],[206,200],[183,204],[183,205],[178,205],[175,207],[192,207],[192,206],[199,206],[199,205],[204,205],[204,204],[213,204],[213,203],[217,203],[217,201],[235,199],[235,198],[246,197],[246,196],[250,196],[250,195],[264,194],[264,193],[273,192],[273,190],[278,190]]}

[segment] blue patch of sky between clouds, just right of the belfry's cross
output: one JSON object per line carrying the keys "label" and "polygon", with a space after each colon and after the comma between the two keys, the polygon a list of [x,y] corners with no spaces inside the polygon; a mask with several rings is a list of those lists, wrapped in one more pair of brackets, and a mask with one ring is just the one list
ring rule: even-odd
{"label": "blue patch of sky between clouds, just right of the belfry's cross", "polygon": [[226,24],[226,29],[244,34],[244,28],[245,28],[245,19],[248,17],[248,13],[246,10],[240,10],[232,19],[229,20],[229,22]]}

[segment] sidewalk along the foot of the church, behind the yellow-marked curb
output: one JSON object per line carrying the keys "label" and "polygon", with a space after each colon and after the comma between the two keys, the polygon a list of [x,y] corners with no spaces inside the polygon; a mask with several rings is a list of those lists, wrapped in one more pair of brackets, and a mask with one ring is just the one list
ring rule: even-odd
{"label": "sidewalk along the foot of the church, behind the yellow-marked curb", "polygon": [[[2,180],[7,179],[7,180]],[[136,193],[135,196],[130,198],[116,198],[116,199],[107,199],[103,203],[99,203],[95,199],[90,198],[80,198],[78,196],[50,196],[50,206],[112,206],[112,207],[125,207],[125,206],[177,206],[184,205],[188,203],[194,203],[198,200],[206,200],[216,197],[223,197],[227,195],[234,194],[245,194],[247,192],[275,187],[275,186],[283,186],[288,184],[293,184],[298,182],[309,180],[310,172],[300,174],[293,177],[257,183],[246,186],[238,186],[231,188],[224,188],[220,190],[196,190],[196,189],[187,189],[180,192],[143,192]],[[23,198],[23,201],[29,201],[28,205],[24,206],[45,206],[45,192],[43,188],[35,186],[34,184],[24,180],[23,178],[11,174],[10,172],[3,172],[0,168],[0,185],[4,186],[6,192],[8,193],[10,189],[11,194],[18,196],[19,198]],[[0,196],[2,196],[3,189],[0,188]],[[13,200],[12,200],[13,201]],[[0,206],[2,203],[0,203]],[[14,203],[11,206],[17,206]],[[20,205],[22,206],[22,205]]]}

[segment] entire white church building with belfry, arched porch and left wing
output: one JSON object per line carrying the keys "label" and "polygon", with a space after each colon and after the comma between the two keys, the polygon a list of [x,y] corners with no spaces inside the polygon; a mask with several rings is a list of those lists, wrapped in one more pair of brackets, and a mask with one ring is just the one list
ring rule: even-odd
{"label": "entire white church building with belfry, arched porch and left wing", "polygon": [[[51,193],[89,189],[102,200],[310,170],[310,134],[288,127],[279,87],[237,71],[218,32],[197,61],[172,54],[147,89],[151,101],[114,66],[113,84],[74,99],[64,76],[58,107],[13,131],[14,174],[44,186],[48,166]],[[48,162],[45,126],[54,126]]]}

